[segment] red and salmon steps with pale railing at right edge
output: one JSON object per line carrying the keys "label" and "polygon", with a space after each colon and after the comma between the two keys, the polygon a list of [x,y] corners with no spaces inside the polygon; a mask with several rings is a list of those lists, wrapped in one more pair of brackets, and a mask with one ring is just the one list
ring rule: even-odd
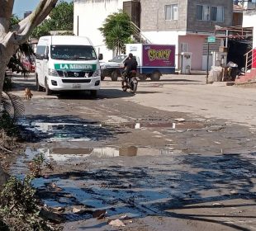
{"label": "red and salmon steps with pale railing at right edge", "polygon": [[246,56],[245,74],[235,79],[236,84],[256,82],[256,48],[244,54]]}

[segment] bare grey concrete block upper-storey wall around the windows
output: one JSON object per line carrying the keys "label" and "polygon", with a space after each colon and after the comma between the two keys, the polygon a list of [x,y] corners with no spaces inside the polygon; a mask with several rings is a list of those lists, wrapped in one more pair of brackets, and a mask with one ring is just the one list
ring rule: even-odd
{"label": "bare grey concrete block upper-storey wall around the windows", "polygon": [[[233,0],[140,0],[142,31],[212,32],[215,26],[232,26]],[[178,4],[178,21],[165,20],[165,5]],[[224,21],[197,20],[197,4],[224,7]]]}

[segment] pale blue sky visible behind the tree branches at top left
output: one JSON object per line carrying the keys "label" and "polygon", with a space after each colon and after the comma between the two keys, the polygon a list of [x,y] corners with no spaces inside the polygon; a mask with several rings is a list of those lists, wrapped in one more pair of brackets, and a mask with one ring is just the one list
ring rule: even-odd
{"label": "pale blue sky visible behind the tree branches at top left", "polygon": [[[24,12],[33,11],[40,0],[15,0],[13,7],[13,14],[16,14],[19,18],[23,18]],[[66,0],[64,2],[71,2]]]}

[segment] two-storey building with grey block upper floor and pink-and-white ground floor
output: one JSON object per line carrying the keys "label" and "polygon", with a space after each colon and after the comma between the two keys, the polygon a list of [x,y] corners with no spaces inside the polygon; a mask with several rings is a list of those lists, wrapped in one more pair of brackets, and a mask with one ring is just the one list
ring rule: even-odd
{"label": "two-storey building with grey block upper floor and pink-and-white ground floor", "polygon": [[[232,26],[233,0],[141,0],[140,28],[153,43],[192,53],[192,69],[206,69],[206,39],[215,26]],[[219,50],[220,40],[210,50]],[[210,62],[211,63],[211,62]]]}

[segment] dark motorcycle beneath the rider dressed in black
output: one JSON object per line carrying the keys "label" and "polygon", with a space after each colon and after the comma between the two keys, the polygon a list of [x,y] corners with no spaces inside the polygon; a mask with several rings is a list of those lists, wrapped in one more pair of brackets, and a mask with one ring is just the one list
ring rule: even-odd
{"label": "dark motorcycle beneath the rider dressed in black", "polygon": [[137,91],[138,87],[138,80],[136,78],[136,72],[130,71],[130,73],[123,72],[122,73],[122,81],[121,81],[121,88],[124,92],[127,91],[127,89],[130,89],[131,93],[134,93]]}

